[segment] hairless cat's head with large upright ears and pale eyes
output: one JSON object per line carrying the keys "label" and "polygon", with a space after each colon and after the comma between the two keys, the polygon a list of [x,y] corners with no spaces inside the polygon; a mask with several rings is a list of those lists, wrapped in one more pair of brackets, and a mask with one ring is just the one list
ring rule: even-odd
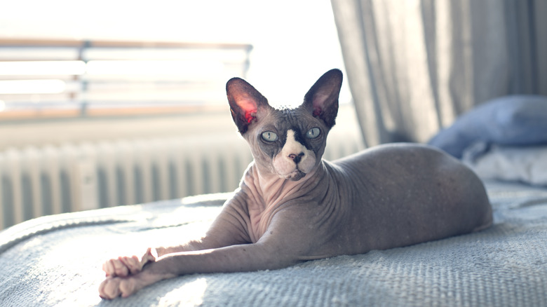
{"label": "hairless cat's head with large upright ears and pale eyes", "polygon": [[255,163],[283,179],[297,181],[320,163],[328,132],[338,113],[342,71],[316,81],[295,109],[274,109],[243,79],[226,85],[231,116],[247,140]]}

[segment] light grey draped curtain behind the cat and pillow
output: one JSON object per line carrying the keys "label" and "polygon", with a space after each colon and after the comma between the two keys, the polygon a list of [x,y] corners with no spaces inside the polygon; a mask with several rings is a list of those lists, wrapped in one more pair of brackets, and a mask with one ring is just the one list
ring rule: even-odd
{"label": "light grey draped curtain behind the cat and pillow", "polygon": [[547,95],[547,1],[331,4],[367,146],[426,142],[495,97]]}

